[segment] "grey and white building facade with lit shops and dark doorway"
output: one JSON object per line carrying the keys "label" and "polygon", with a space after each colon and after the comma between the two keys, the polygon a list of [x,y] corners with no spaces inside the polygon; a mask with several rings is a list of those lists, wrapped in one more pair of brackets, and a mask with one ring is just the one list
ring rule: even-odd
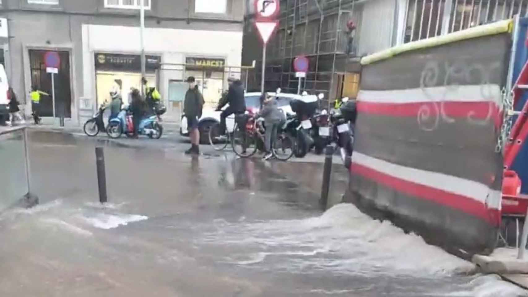
{"label": "grey and white building facade with lit shops and dark doorway", "polygon": [[[26,98],[25,113],[31,109],[32,85],[51,93],[48,51],[59,53],[60,65],[54,74],[55,110],[51,98],[42,98],[44,117],[55,111],[82,123],[112,89],[127,102],[130,88],[140,88],[139,1],[0,0],[10,36],[0,39],[2,59],[10,85]],[[240,75],[244,2],[144,0],[144,5],[147,80],[161,92],[167,118],[180,117],[188,75],[196,76],[214,104],[227,76]]]}

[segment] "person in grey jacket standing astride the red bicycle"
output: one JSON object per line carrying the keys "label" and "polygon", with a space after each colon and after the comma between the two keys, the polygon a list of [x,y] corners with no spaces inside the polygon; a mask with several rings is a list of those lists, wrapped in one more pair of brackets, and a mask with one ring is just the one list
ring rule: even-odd
{"label": "person in grey jacket standing astride the red bicycle", "polygon": [[286,117],[279,109],[277,106],[277,101],[272,96],[269,96],[266,100],[264,100],[260,116],[264,118],[264,123],[266,124],[266,133],[264,137],[266,155],[264,155],[263,159],[268,160],[273,156],[271,152],[271,145],[272,143],[275,143],[277,139],[277,131],[280,128],[281,122],[286,120]]}

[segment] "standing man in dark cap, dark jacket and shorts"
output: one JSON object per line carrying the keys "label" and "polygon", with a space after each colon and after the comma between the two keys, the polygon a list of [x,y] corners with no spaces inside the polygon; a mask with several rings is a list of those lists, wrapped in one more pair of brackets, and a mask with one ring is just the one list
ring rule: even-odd
{"label": "standing man in dark cap, dark jacket and shorts", "polygon": [[203,96],[198,91],[196,80],[193,76],[187,78],[189,89],[185,93],[185,101],[183,112],[187,118],[187,125],[189,129],[189,136],[191,137],[191,148],[185,151],[185,154],[200,154],[200,131],[198,130],[198,119],[202,117],[202,109],[205,101]]}

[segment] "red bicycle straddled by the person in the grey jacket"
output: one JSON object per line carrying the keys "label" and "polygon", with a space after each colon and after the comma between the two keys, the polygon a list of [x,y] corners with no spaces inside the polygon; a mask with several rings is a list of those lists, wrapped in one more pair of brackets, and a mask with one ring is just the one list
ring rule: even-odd
{"label": "red bicycle straddled by the person in the grey jacket", "polygon": [[[242,129],[238,122],[240,121],[235,121],[231,146],[237,156],[249,158],[257,152],[257,142],[265,141],[263,119],[250,114]],[[277,133],[277,139],[272,143],[271,154],[278,160],[286,161],[294,155],[294,143],[293,138],[281,129]]]}

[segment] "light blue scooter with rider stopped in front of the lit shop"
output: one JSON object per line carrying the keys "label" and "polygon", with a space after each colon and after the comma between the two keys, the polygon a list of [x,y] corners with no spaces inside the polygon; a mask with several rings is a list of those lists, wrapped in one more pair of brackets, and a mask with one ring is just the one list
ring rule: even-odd
{"label": "light blue scooter with rider stopped in front of the lit shop", "polygon": [[[119,138],[123,133],[127,136],[134,134],[134,126],[132,124],[132,115],[128,110],[124,109],[119,112],[116,118],[113,118],[108,123],[106,133],[110,138]],[[163,135],[163,126],[158,121],[158,116],[153,116],[143,119],[139,123],[138,135],[146,135],[149,138],[159,139]]]}

